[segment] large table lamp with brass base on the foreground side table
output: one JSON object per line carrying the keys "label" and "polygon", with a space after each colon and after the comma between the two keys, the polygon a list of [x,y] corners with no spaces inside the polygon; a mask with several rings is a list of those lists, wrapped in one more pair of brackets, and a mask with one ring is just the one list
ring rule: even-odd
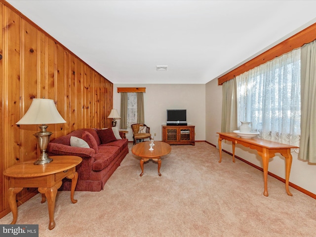
{"label": "large table lamp with brass base on the foreground side table", "polygon": [[46,164],[53,161],[46,153],[52,132],[46,131],[46,124],[65,123],[66,121],[58,113],[55,103],[51,99],[33,99],[32,104],[26,114],[16,124],[41,124],[40,131],[35,133],[38,146],[40,148],[40,157],[34,164]]}

